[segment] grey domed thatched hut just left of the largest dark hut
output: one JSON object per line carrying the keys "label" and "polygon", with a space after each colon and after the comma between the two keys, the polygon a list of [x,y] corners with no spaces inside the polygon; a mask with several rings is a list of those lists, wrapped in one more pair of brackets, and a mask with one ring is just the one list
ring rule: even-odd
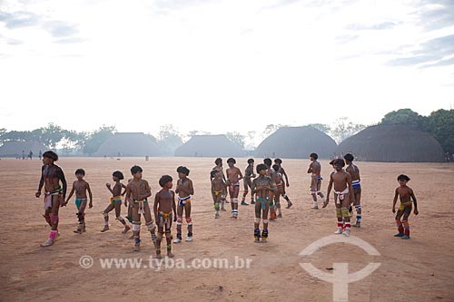
{"label": "grey domed thatched hut just left of the largest dark hut", "polygon": [[311,126],[282,127],[262,141],[255,155],[307,159],[315,152],[320,158],[329,158],[336,150],[336,141]]}

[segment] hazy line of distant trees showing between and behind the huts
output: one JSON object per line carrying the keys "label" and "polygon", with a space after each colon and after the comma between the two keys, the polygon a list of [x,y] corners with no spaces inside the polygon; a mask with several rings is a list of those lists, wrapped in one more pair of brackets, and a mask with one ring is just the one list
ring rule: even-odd
{"label": "hazy line of distant trees showing between and behind the huts", "polygon": [[[406,124],[421,131],[429,132],[439,141],[444,151],[448,151],[451,154],[454,153],[454,110],[440,109],[439,111],[431,112],[429,116],[421,116],[410,109],[400,109],[387,113],[379,124]],[[225,135],[242,149],[253,149],[255,147],[254,141],[257,141],[257,139],[262,141],[279,128],[290,126],[269,124],[262,132],[227,132]],[[321,123],[306,124],[306,126],[312,126],[321,132],[325,132],[338,143],[367,127],[363,124],[351,122],[347,117],[339,118],[332,126]],[[7,132],[5,129],[0,129],[0,145],[7,141],[38,141],[49,149],[58,147],[64,155],[92,155],[115,132],[117,132],[115,126],[103,125],[94,132],[76,132],[65,130],[54,123],[49,123],[46,127],[33,131]],[[172,124],[165,124],[160,127],[157,138],[151,134],[147,135],[158,144],[163,155],[173,155],[173,151],[180,147],[183,141],[194,135],[203,134],[211,133],[193,130],[182,134],[175,130]]]}

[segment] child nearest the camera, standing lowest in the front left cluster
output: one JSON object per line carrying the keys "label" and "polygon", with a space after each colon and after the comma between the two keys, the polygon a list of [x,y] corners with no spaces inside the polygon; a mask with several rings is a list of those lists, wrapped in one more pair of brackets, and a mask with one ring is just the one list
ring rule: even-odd
{"label": "child nearest the camera, standing lowest in the front left cluster", "polygon": [[[153,212],[158,226],[158,238],[156,240],[156,258],[161,258],[161,241],[165,232],[167,241],[167,257],[173,258],[172,253],[172,219],[176,221],[175,192],[172,189],[172,177],[163,175],[159,180],[161,189],[154,197]],[[173,212],[173,215],[172,215]],[[173,216],[173,217],[172,217]]]}

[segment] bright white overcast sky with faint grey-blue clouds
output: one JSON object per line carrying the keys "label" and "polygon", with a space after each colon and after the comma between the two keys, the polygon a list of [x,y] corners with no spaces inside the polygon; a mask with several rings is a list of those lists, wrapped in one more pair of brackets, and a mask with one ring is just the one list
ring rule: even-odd
{"label": "bright white overcast sky with faint grey-blue clouds", "polygon": [[182,133],[454,108],[454,1],[0,0],[0,128]]}

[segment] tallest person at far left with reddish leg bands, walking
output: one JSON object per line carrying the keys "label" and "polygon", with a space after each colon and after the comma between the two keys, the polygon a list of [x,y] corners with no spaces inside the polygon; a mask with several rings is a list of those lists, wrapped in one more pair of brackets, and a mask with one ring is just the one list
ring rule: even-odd
{"label": "tallest person at far left with reddish leg bands, walking", "polygon": [[[54,151],[45,151],[43,154],[43,168],[41,169],[41,179],[39,180],[38,190],[35,196],[41,196],[44,186],[44,219],[51,226],[49,238],[44,241],[42,247],[49,247],[54,244],[58,235],[58,209],[66,205],[66,180],[62,168],[54,164],[58,161],[58,155]],[[62,182],[62,185],[60,185]]]}

